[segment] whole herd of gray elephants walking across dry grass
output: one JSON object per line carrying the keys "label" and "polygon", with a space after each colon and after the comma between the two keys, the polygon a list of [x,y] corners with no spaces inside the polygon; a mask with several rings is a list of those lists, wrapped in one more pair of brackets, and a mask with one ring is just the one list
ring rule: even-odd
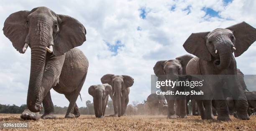
{"label": "whole herd of gray elephants walking across dry grass", "polygon": [[[79,117],[76,101],[87,76],[89,62],[82,51],[75,47],[86,41],[84,25],[70,16],[38,7],[11,14],[5,20],[3,33],[19,53],[25,53],[28,47],[31,48],[28,109],[20,117],[38,120],[39,111],[44,108],[41,118],[55,118],[51,88],[64,94],[69,101],[65,118]],[[255,92],[245,91],[245,83],[241,81],[242,73],[236,67],[235,57],[244,53],[255,40],[256,29],[245,22],[211,32],[192,33],[183,47],[195,56],[182,55],[172,60],[160,60],[153,69],[158,81],[204,79],[203,86],[193,88],[195,91],[203,91],[204,97],[151,94],[145,108],[149,109],[149,113],[166,114],[168,118],[186,118],[187,103],[191,101],[192,114],[200,113],[202,119],[214,119],[214,107],[218,120],[230,121],[229,114],[248,120],[248,114],[256,107],[256,95]],[[207,75],[218,77],[211,79]],[[114,107],[111,116],[123,116],[125,111],[136,114],[138,108],[128,105],[130,87],[134,83],[131,76],[106,74],[100,80],[102,84],[92,85],[88,89],[93,97],[97,118],[105,115],[109,96]],[[161,91],[192,90],[187,87],[160,88]]]}

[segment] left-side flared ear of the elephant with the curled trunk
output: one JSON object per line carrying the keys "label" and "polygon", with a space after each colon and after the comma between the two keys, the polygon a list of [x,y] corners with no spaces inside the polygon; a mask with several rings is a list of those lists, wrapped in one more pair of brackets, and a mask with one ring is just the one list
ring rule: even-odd
{"label": "left-side flared ear of the elephant with the curled trunk", "polygon": [[208,33],[210,32],[192,33],[183,44],[184,49],[200,59],[211,61],[211,54],[205,43]]}

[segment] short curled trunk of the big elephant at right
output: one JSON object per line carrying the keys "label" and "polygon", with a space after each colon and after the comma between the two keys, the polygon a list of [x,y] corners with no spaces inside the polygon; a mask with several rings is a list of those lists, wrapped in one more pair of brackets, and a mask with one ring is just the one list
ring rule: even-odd
{"label": "short curled trunk of the big elephant at right", "polygon": [[224,43],[219,47],[220,48],[218,48],[219,49],[218,52],[219,52],[220,60],[219,59],[215,60],[214,65],[219,70],[223,70],[225,68],[228,68],[228,66],[230,65],[232,52],[231,52],[231,47],[229,45],[225,45]]}

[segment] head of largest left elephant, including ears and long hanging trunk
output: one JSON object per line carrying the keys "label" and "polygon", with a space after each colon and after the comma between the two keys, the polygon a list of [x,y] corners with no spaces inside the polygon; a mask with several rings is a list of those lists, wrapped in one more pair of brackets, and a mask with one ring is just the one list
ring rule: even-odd
{"label": "head of largest left elephant, including ears and long hanging trunk", "polygon": [[62,55],[82,45],[86,40],[86,30],[72,17],[38,7],[11,14],[5,20],[3,33],[19,53],[25,53],[28,46],[31,48],[27,106],[30,111],[39,112],[44,99],[44,85],[41,83],[46,54]]}

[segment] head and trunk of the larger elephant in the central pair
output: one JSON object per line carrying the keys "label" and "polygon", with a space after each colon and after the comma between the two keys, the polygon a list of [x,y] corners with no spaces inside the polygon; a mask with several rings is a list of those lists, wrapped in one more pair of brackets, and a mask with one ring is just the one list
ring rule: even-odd
{"label": "head and trunk of the larger elephant in the central pair", "polygon": [[134,79],[131,76],[118,76],[114,74],[106,74],[102,76],[100,79],[102,83],[108,83],[113,88],[113,96],[115,95],[117,107],[118,107],[118,117],[121,116],[121,91],[126,90],[126,88],[129,88],[133,86]]}

